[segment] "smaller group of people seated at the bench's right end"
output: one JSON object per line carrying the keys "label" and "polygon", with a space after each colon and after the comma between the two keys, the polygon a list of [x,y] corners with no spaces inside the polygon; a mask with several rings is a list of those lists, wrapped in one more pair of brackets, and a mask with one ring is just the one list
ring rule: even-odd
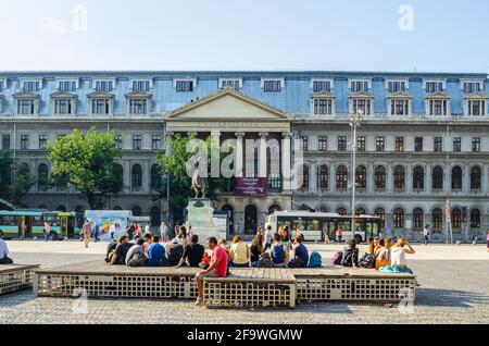
{"label": "smaller group of people seated at the bench's right end", "polygon": [[369,238],[367,244],[367,252],[360,258],[356,242],[348,240],[344,251],[335,255],[333,264],[376,269],[386,273],[413,273],[408,267],[405,255],[413,255],[415,250],[406,239],[400,238],[393,243],[390,238],[375,237]]}

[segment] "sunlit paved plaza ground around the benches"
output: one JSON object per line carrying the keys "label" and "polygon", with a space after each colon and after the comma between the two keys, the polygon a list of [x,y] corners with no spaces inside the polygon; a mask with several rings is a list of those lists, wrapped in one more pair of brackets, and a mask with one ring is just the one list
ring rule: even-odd
{"label": "sunlit paved plaza ground around the benches", "polygon": [[[17,263],[43,268],[103,260],[105,244],[85,249],[78,242],[9,242]],[[329,262],[341,249],[310,245]],[[192,301],[36,298],[32,291],[0,297],[0,323],[163,324],[344,324],[489,323],[489,252],[486,247],[415,246],[410,265],[421,287],[413,309],[364,304],[302,302],[296,310],[206,310]],[[364,250],[364,248],[362,249]],[[83,307],[83,309],[80,309]],[[409,313],[405,313],[409,312]]]}

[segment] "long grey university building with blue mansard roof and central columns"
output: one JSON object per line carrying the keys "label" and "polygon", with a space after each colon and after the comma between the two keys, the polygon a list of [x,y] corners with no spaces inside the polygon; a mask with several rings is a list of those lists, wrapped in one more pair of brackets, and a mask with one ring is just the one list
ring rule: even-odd
{"label": "long grey university building with blue mansard roof and central columns", "polygon": [[[74,128],[114,131],[124,191],[109,208],[150,215],[153,225],[167,206],[151,198],[162,180],[156,153],[171,150],[168,137],[192,134],[237,140],[236,186],[215,200],[237,234],[254,233],[275,210],[351,213],[355,177],[355,212],[381,217],[386,234],[417,239],[429,224],[442,240],[450,200],[454,238],[484,239],[488,90],[485,73],[3,72],[0,138],[21,169],[49,176],[48,141]],[[353,139],[356,113],[363,121]],[[248,140],[258,144],[253,152]],[[283,174],[299,162],[296,148],[300,186]],[[23,207],[88,208],[73,187],[42,184]]]}

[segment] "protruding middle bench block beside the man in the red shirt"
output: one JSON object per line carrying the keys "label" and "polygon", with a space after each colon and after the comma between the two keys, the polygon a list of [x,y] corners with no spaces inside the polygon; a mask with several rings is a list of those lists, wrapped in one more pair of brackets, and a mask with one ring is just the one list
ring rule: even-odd
{"label": "protruding middle bench block beside the man in the red shirt", "polygon": [[294,308],[296,277],[288,269],[230,269],[227,277],[204,279],[208,308]]}

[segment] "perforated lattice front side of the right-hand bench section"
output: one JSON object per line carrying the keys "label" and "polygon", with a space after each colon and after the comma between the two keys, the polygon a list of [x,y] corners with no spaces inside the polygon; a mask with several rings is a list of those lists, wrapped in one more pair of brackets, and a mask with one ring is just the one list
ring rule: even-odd
{"label": "perforated lattice front side of the right-hand bench section", "polygon": [[298,279],[298,300],[400,301],[415,297],[416,279]]}

